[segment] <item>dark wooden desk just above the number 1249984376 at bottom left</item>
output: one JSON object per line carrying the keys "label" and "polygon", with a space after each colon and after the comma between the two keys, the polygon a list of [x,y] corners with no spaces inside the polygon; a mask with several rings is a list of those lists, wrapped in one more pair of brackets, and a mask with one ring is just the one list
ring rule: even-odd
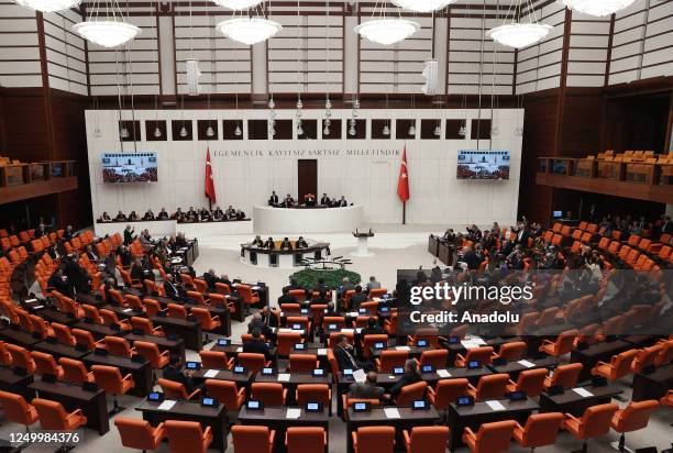
{"label": "dark wooden desk just above the number 1249984376 at bottom left", "polygon": [[76,385],[44,380],[36,380],[29,388],[37,391],[40,398],[60,402],[68,412],[81,409],[87,418],[86,427],[98,431],[100,435],[110,431],[104,390],[87,391]]}

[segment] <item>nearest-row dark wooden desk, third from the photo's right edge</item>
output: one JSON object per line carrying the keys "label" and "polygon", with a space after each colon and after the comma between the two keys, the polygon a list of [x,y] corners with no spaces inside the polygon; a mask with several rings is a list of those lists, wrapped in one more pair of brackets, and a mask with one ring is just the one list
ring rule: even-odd
{"label": "nearest-row dark wooden desk, third from the photo's right edge", "polygon": [[483,401],[474,406],[456,406],[452,404],[446,412],[448,426],[451,430],[451,451],[463,445],[463,431],[465,428],[477,432],[479,426],[501,420],[517,420],[521,426],[526,424],[528,416],[533,410],[540,409],[538,404],[528,398],[523,401],[499,400],[505,410],[493,410]]}

